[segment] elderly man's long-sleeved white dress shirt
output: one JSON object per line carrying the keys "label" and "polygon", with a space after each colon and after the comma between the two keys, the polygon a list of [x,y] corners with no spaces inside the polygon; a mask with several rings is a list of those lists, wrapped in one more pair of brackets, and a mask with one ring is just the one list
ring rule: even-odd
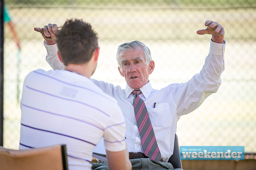
{"label": "elderly man's long-sleeved white dress shirt", "polygon": [[[46,61],[53,69],[62,69],[63,65],[56,57],[56,45],[46,45]],[[140,97],[147,107],[158,147],[161,152],[161,160],[167,162],[173,154],[174,135],[177,128],[177,120],[181,115],[186,115],[203,103],[212,93],[217,92],[224,71],[224,50],[225,43],[219,44],[211,41],[210,51],[205,59],[203,69],[199,74],[194,75],[186,83],[170,84],[167,87],[156,90],[151,86],[150,81],[140,88]],[[113,96],[122,109],[126,123],[126,143],[129,152],[142,152],[140,134],[135,120],[133,109],[133,95],[128,85],[126,89],[114,86],[107,82],[92,79],[93,83],[99,86],[104,92]],[[157,105],[154,108],[154,103]]]}

